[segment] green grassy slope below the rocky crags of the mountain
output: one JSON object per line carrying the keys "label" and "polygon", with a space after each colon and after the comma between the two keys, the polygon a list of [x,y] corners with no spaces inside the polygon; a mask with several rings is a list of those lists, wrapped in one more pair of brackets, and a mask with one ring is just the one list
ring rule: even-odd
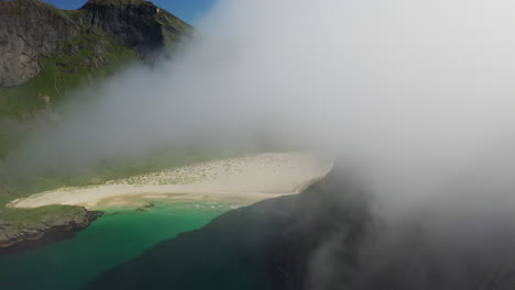
{"label": "green grassy slope below the rocky crags of the mountain", "polygon": [[[96,49],[99,43],[107,49]],[[102,34],[76,36],[73,42],[59,43],[58,47],[62,54],[42,58],[42,71],[37,77],[20,87],[0,88],[0,116],[28,118],[47,105],[62,103],[81,86],[113,75],[138,60],[136,52]]]}

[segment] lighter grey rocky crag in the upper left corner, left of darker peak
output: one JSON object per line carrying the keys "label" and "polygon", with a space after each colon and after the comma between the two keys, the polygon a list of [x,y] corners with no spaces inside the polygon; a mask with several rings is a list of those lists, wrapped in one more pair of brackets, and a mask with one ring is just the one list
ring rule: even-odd
{"label": "lighter grey rocky crag in the upper left corner, left of darker peak", "polygon": [[0,87],[35,77],[42,56],[83,32],[67,13],[35,0],[0,0]]}

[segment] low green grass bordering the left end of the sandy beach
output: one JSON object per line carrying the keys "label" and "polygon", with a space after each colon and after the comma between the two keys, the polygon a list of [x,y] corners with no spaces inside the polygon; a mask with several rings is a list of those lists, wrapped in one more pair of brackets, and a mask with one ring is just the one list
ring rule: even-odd
{"label": "low green grass bordering the left end of the sandy beach", "polygon": [[42,221],[53,221],[54,223],[73,221],[85,214],[83,208],[70,205],[51,205],[36,209],[12,209],[7,207],[10,201],[17,198],[61,187],[102,185],[108,180],[154,172],[206,159],[208,159],[206,155],[162,150],[146,158],[105,161],[95,168],[76,168],[68,171],[45,170],[18,176],[0,170],[0,232],[10,232],[14,235],[18,232],[24,232],[25,228],[43,228],[45,223],[42,223]]}

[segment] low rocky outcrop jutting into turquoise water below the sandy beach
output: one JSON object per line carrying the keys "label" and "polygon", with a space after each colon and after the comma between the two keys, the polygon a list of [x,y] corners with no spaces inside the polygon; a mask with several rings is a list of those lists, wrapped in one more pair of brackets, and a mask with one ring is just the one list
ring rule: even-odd
{"label": "low rocky outcrop jutting into turquoise water below the sandy beach", "polygon": [[[51,209],[46,214],[33,214],[26,212],[29,210],[15,210],[20,212],[14,213],[14,215],[21,213],[26,217],[22,220],[0,220],[0,254],[12,252],[13,247],[22,248],[26,243],[37,244],[40,239],[44,243],[59,239],[63,234],[87,227],[101,215],[101,212],[87,211],[85,208],[73,208],[65,213],[58,210],[52,212],[52,210],[54,209]],[[34,216],[34,219],[31,219],[31,216]]]}

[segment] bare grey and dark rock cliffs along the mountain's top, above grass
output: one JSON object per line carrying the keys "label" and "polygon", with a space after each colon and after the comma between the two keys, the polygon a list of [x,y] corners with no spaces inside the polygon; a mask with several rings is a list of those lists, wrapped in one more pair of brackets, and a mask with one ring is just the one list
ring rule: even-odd
{"label": "bare grey and dark rock cliffs along the mountain's top, above grass", "polygon": [[76,56],[92,46],[92,57],[78,63],[95,63],[98,68],[114,53],[112,40],[149,59],[190,31],[188,24],[143,0],[90,0],[74,11],[37,0],[0,0],[0,87],[34,78],[44,69],[45,57]]}

